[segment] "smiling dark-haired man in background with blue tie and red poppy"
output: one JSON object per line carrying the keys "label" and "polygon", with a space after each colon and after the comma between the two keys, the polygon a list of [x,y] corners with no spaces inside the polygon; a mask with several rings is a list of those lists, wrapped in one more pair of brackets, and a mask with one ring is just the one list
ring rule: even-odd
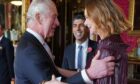
{"label": "smiling dark-haired man in background with blue tie and red poppy", "polygon": [[[74,14],[72,31],[75,43],[65,48],[62,68],[70,70],[84,69],[96,52],[97,42],[89,39],[89,29],[84,25],[84,22],[83,12]],[[83,47],[81,60],[78,60],[79,45]],[[81,62],[80,66],[78,66],[79,61]]]}

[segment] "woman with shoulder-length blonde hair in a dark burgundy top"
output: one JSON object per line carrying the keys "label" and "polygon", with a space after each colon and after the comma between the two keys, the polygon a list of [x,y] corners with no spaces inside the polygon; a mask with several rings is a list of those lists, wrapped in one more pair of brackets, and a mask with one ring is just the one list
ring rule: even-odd
{"label": "woman with shoulder-length blonde hair in a dark burgundy top", "polygon": [[85,16],[90,34],[97,34],[101,39],[100,59],[109,55],[115,57],[114,75],[97,79],[96,84],[127,84],[128,46],[120,37],[121,32],[130,28],[127,20],[112,0],[86,0]]}

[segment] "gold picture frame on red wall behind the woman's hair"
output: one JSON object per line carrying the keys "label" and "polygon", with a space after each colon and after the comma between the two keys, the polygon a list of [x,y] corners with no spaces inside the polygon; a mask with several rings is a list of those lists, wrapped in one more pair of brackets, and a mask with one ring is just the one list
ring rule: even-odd
{"label": "gold picture frame on red wall behind the woman's hair", "polygon": [[136,0],[129,0],[129,17],[128,17],[128,19],[132,26],[131,31],[129,33],[132,35],[140,34],[140,30],[134,30],[135,3],[136,3]]}

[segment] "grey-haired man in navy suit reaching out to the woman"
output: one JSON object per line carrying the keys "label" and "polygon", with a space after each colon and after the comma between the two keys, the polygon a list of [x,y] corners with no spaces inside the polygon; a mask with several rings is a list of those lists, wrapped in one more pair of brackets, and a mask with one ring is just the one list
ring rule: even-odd
{"label": "grey-haired man in navy suit reaching out to the woman", "polygon": [[[44,83],[44,80],[51,79],[52,74],[64,73],[63,69],[60,71],[55,66],[50,48],[45,43],[45,39],[52,37],[55,28],[59,26],[57,15],[53,1],[33,0],[31,2],[27,13],[27,30],[16,51],[14,65],[16,84]],[[112,75],[115,64],[110,61],[113,59],[112,57],[103,60],[93,59],[88,69],[69,77],[66,82],[83,84],[91,82],[90,79]],[[98,67],[99,64],[102,67]]]}

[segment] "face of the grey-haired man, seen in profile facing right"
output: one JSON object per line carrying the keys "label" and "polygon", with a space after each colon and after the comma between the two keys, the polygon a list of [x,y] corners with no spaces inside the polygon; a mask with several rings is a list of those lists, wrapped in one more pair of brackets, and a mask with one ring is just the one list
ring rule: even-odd
{"label": "face of the grey-haired man, seen in profile facing right", "polygon": [[51,6],[48,13],[44,15],[42,21],[42,27],[43,27],[42,32],[45,38],[54,36],[55,28],[59,26],[59,21],[57,16],[58,15],[57,15],[57,10],[55,5]]}

